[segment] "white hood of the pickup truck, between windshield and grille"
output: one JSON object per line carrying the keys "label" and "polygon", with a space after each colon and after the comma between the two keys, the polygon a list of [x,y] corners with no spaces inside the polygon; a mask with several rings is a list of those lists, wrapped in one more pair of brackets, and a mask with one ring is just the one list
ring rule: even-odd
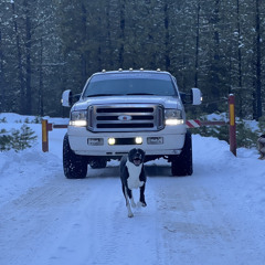
{"label": "white hood of the pickup truck, between windshield and grille", "polygon": [[91,105],[116,105],[116,104],[158,104],[165,108],[182,109],[178,97],[172,96],[102,96],[84,98],[75,103],[72,110],[86,109]]}

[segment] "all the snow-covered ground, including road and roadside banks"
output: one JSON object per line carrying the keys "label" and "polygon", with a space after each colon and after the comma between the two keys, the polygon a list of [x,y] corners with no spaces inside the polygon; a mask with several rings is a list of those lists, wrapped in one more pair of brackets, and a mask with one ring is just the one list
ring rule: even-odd
{"label": "all the snow-covered ground, including road and roadside banks", "polygon": [[[0,129],[21,127],[7,119]],[[234,157],[226,142],[194,135],[193,176],[149,162],[148,206],[128,219],[117,163],[67,180],[65,130],[50,132],[43,153],[41,126],[30,126],[33,148],[0,152],[1,265],[264,264],[265,161],[256,150]]]}

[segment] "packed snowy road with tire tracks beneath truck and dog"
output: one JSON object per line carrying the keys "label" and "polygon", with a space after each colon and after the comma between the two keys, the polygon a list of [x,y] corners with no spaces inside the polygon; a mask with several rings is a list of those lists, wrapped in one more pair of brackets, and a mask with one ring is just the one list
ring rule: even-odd
{"label": "packed snowy road with tire tracks beneath truck and dog", "polygon": [[148,166],[147,173],[148,206],[134,210],[132,219],[117,167],[91,170],[84,180],[53,176],[1,205],[0,264],[261,264],[258,235],[252,239],[253,223],[237,219],[237,202],[226,205],[220,192],[231,183],[220,173],[210,172],[214,181],[165,177],[165,166]]}

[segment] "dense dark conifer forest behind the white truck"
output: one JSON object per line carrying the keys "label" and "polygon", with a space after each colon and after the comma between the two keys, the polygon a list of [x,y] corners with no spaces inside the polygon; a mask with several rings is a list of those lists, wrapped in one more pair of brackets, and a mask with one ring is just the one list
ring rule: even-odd
{"label": "dense dark conifer forest behind the white truck", "polygon": [[264,0],[1,0],[0,113],[67,116],[64,89],[95,72],[168,71],[199,87],[191,115],[265,112]]}

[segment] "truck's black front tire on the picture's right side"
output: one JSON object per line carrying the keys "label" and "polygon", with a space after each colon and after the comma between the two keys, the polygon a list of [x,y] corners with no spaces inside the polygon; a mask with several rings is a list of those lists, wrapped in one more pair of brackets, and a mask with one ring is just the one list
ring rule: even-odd
{"label": "truck's black front tire on the picture's right side", "polygon": [[186,134],[182,152],[171,158],[171,172],[172,176],[191,176],[193,173],[192,140],[190,131]]}

